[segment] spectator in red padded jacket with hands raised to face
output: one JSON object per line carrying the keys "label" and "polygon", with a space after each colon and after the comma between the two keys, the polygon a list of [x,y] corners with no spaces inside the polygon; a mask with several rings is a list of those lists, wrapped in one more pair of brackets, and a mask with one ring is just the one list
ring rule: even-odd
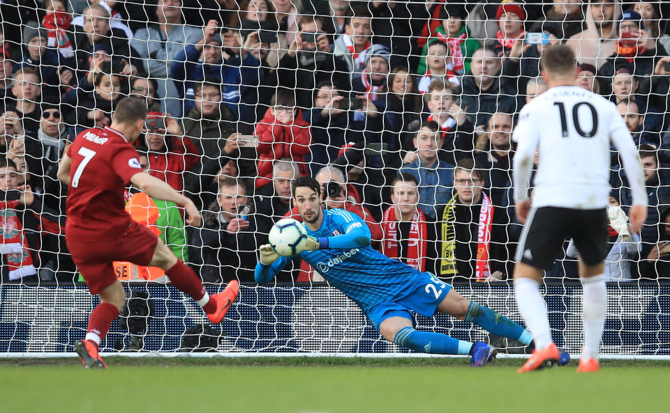
{"label": "spectator in red padded jacket with hands raised to face", "polygon": [[258,179],[256,187],[272,181],[272,163],[288,157],[298,163],[301,176],[307,176],[305,155],[309,153],[312,137],[309,124],[295,107],[295,92],[277,89],[274,106],[256,125],[258,135]]}

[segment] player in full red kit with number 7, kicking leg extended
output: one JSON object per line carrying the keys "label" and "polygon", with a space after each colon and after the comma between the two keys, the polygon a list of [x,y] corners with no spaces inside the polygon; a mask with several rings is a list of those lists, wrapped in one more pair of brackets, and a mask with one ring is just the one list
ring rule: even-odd
{"label": "player in full red kit with number 7, kicking leg extended", "polygon": [[69,185],[68,249],[91,294],[100,295],[101,300],[91,312],[86,338],[75,343],[75,351],[87,368],[107,367],[98,347],[126,299],[113,261],[161,267],[172,285],[195,299],[214,324],[223,320],[239,292],[239,283],[230,281],[222,293],[210,297],[195,272],[124,210],[124,189],[130,182],[151,197],[183,206],[186,223],[200,225],[200,212],[193,201],[142,171],[133,143],[144,130],[146,117],[147,106],[142,100],[121,100],[112,124],[77,135],[58,169],[59,180]]}

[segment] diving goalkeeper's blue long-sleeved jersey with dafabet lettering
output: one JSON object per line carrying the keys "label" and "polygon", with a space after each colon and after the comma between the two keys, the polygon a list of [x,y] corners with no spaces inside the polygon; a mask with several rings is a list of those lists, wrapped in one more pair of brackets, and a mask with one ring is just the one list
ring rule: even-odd
{"label": "diving goalkeeper's blue long-sleeved jersey with dafabet lettering", "polygon": [[[329,249],[303,251],[299,254],[303,260],[366,312],[376,304],[409,293],[422,272],[370,247],[370,230],[358,215],[341,209],[322,213],[325,217],[318,231],[303,225],[315,238],[328,237]],[[271,265],[258,263],[256,281],[269,281],[290,260],[279,257]]]}

